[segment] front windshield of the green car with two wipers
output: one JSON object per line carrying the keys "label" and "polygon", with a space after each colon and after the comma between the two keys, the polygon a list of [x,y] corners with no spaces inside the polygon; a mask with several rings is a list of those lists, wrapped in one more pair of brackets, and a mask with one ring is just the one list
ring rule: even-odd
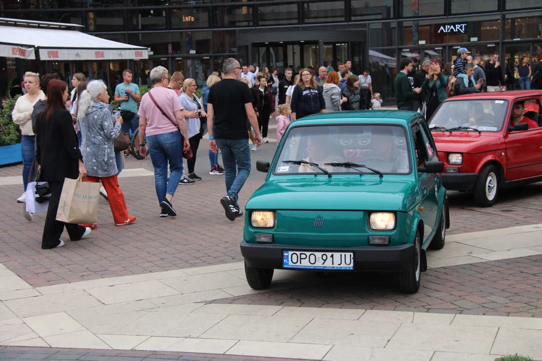
{"label": "front windshield of the green car with two wipers", "polygon": [[273,174],[311,173],[326,176],[318,167],[331,174],[409,174],[411,166],[406,139],[405,129],[401,126],[356,124],[294,127],[289,130],[280,149]]}

